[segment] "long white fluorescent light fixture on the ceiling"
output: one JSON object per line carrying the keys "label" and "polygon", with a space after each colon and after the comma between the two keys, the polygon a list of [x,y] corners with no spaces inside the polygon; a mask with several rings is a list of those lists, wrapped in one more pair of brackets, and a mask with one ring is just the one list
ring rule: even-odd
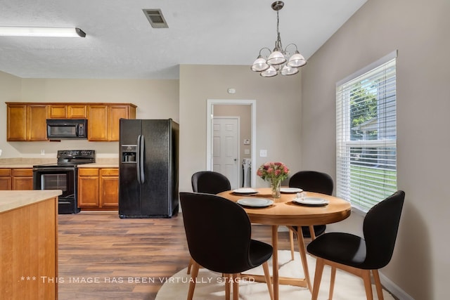
{"label": "long white fluorescent light fixture on the ceiling", "polygon": [[12,27],[0,26],[4,37],[86,37],[77,27]]}

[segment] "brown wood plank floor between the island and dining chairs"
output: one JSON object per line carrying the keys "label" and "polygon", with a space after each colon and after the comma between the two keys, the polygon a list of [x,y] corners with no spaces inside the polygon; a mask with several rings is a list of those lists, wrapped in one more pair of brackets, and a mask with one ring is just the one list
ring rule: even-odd
{"label": "brown wood plank floor between the island and dining chairs", "polygon": [[[172,219],[120,219],[117,211],[60,214],[58,232],[60,300],[152,300],[162,282],[189,261],[181,214]],[[252,226],[252,237],[271,243],[271,229]],[[287,232],[279,234],[278,244],[289,249]]]}

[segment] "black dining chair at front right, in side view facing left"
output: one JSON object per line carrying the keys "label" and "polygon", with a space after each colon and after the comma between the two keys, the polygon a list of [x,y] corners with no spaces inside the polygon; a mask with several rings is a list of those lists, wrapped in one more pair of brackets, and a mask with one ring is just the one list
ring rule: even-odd
{"label": "black dining chair at front right, in side view facing left", "polygon": [[323,266],[325,265],[331,266],[328,299],[333,299],[336,268],[340,268],[363,278],[367,299],[373,299],[372,271],[378,299],[383,300],[378,269],[386,266],[392,258],[404,198],[404,191],[398,190],[390,197],[375,204],[364,218],[364,238],[350,233],[324,233],[309,243],[307,251],[316,256],[313,300],[316,300],[319,295]]}

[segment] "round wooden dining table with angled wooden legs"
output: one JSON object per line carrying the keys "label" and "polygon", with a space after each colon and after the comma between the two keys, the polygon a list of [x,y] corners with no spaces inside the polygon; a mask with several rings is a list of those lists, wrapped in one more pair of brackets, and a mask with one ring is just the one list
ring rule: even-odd
{"label": "round wooden dining table with angled wooden legs", "polygon": [[[304,206],[293,202],[296,197],[295,193],[281,193],[280,198],[274,199],[272,198],[270,188],[257,188],[255,190],[257,193],[254,195],[242,195],[233,192],[233,190],[228,190],[217,195],[233,202],[252,197],[267,198],[274,201],[274,203],[268,207],[243,206],[252,223],[272,226],[272,247],[274,247],[274,254],[272,256],[272,280],[274,283],[274,299],[278,300],[280,284],[307,287],[311,291],[312,287],[309,278],[307,252],[304,246],[302,230],[301,228],[295,230],[295,226],[322,225],[347,219],[351,211],[350,203],[338,197],[306,191],[304,192],[306,194],[304,196],[318,197],[326,200],[328,204],[323,206]],[[278,226],[287,226],[297,233],[297,242],[300,258],[302,259],[304,278],[280,278],[278,276]],[[255,279],[258,281],[264,280],[264,277]]]}

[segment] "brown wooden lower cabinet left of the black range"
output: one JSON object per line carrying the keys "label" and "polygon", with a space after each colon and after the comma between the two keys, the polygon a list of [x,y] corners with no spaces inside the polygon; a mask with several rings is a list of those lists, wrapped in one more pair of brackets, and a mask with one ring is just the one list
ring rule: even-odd
{"label": "brown wooden lower cabinet left of the black range", "polygon": [[0,190],[32,190],[33,169],[0,169]]}

